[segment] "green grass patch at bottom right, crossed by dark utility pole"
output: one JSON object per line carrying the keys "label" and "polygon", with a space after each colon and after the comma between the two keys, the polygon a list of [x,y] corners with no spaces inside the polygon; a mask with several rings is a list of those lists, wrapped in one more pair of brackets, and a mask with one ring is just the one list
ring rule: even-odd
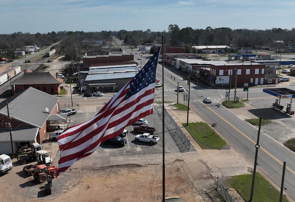
{"label": "green grass patch at bottom right, crossed by dark utility pole", "polygon": [[[229,178],[226,186],[235,188],[237,193],[248,202],[251,194],[253,174],[236,175]],[[252,202],[278,202],[280,192],[276,190],[262,175],[256,172]],[[283,202],[288,202],[283,196]]]}

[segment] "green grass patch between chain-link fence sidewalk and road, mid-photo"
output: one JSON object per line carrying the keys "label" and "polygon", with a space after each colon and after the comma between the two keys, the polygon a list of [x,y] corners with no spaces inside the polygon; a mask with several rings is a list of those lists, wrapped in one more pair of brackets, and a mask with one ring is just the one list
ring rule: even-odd
{"label": "green grass patch between chain-link fence sidewalk and road, mid-photo", "polygon": [[214,131],[213,135],[213,129],[204,122],[188,123],[188,126],[186,126],[186,123],[183,123],[182,125],[194,137],[202,149],[222,149],[227,145],[224,139],[216,134],[216,131]]}

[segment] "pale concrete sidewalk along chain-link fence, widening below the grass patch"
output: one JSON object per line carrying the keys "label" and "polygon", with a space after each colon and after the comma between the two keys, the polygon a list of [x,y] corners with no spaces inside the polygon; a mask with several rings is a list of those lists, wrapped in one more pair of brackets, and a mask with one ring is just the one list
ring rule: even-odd
{"label": "pale concrete sidewalk along chain-link fence, widening below the grass patch", "polygon": [[[239,153],[235,151],[235,149],[223,149],[223,150],[215,150],[215,149],[205,149],[203,150],[199,144],[194,140],[194,138],[187,132],[187,130],[182,127],[182,123],[186,123],[187,121],[187,111],[177,110],[173,106],[167,105],[165,107],[169,114],[174,118],[177,122],[177,125],[181,128],[184,134],[189,138],[191,145],[194,147],[196,152],[184,152],[180,156],[185,162],[189,173],[191,174],[192,182],[198,186],[202,183],[202,185],[207,186],[208,179],[206,181],[202,181],[200,179],[200,175],[204,174],[202,171],[202,165],[200,165],[200,161],[202,161],[207,166],[207,171],[210,172],[212,177],[218,176],[221,181],[225,179],[225,177],[231,177],[240,174],[250,174],[248,171],[251,167],[251,162],[248,159],[245,159]],[[192,122],[204,122],[197,112],[192,109],[189,112],[189,123]],[[218,131],[216,131],[218,133]],[[221,135],[222,136],[222,135]],[[204,166],[204,165],[203,165]],[[204,177],[204,176],[203,176]],[[214,182],[210,181],[212,186],[214,186]],[[201,186],[202,186],[201,185]],[[235,190],[229,189],[229,193],[233,194],[233,197],[236,199],[236,202],[244,202],[243,199],[236,193]]]}

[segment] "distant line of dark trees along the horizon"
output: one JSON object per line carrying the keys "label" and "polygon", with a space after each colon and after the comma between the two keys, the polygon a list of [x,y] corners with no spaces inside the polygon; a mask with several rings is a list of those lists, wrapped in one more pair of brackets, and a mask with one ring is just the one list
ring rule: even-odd
{"label": "distant line of dark trees along the horizon", "polygon": [[[103,44],[110,44],[112,36],[122,40],[124,44],[137,47],[144,43],[161,44],[164,36],[166,46],[185,46],[186,52],[194,52],[192,45],[229,45],[235,47],[284,47],[287,44],[295,44],[295,28],[283,30],[272,28],[271,30],[247,30],[230,28],[207,27],[204,29],[192,29],[190,27],[180,29],[177,25],[169,25],[168,32],[146,31],[101,31],[101,32],[51,32],[47,34],[13,33],[0,34],[0,57],[14,59],[15,51],[25,45],[37,44],[39,47],[49,46],[61,41],[60,51],[65,54],[67,60],[78,61],[81,50],[97,49],[94,40],[102,40]],[[284,43],[276,43],[283,41]]]}

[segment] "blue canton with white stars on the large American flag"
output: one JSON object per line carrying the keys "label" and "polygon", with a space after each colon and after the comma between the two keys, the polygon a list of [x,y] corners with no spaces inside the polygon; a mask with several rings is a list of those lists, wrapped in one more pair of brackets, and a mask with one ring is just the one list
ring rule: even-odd
{"label": "blue canton with white stars on the large American flag", "polygon": [[159,53],[160,48],[149,59],[148,63],[132,79],[130,83],[130,89],[126,94],[125,99],[128,99],[134,94],[137,94],[143,88],[147,87],[149,84],[156,82],[156,69],[158,64]]}

